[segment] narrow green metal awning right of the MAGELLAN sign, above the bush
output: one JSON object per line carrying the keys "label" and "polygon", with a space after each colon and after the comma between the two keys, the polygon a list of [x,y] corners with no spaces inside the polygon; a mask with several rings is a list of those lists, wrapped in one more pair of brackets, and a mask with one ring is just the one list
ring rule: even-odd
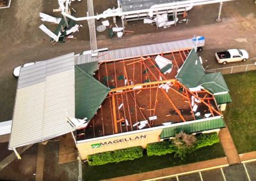
{"label": "narrow green metal awning right of the MAGELLAN sign, above the bush", "polygon": [[202,131],[207,131],[211,129],[219,129],[225,126],[225,122],[222,118],[205,120],[202,122],[193,122],[191,124],[183,124],[179,126],[166,127],[163,129],[160,138],[170,138],[175,136],[175,134],[183,131],[184,133],[198,133]]}

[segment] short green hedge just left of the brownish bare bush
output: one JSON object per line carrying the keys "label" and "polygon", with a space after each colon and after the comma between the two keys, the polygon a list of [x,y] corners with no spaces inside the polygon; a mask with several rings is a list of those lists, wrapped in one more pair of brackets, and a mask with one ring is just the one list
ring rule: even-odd
{"label": "short green hedge just left of the brownish bare bush", "polygon": [[175,152],[175,147],[171,140],[149,143],[147,145],[148,156],[161,156],[165,154],[172,154],[173,152]]}

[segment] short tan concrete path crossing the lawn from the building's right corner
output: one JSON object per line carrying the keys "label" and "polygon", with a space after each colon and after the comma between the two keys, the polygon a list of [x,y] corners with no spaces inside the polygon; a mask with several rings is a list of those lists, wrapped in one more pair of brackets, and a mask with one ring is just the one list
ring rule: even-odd
{"label": "short tan concrete path crossing the lawn from the building's right corner", "polygon": [[232,165],[241,163],[240,157],[237,154],[236,147],[227,127],[220,130],[219,137],[221,145],[227,157],[228,164]]}

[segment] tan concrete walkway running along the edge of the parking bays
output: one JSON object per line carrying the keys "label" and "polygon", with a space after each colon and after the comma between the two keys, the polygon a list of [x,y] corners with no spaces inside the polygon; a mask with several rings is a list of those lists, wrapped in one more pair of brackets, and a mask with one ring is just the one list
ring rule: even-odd
{"label": "tan concrete walkway running along the edge of the parking bays", "polygon": [[117,180],[147,180],[150,178],[158,178],[158,177],[165,177],[168,175],[175,175],[179,173],[193,173],[195,171],[203,171],[203,170],[209,170],[209,168],[220,168],[223,166],[228,166],[228,162],[226,157],[218,158],[218,159],[212,159],[209,161],[202,161],[198,163],[191,163],[191,164],[184,164],[180,166],[174,166],[172,168],[164,168],[161,170],[155,170],[155,171],[147,171],[144,173],[137,173],[134,175],[127,175],[124,177],[116,177],[116,178],[110,178],[108,180],[111,181],[117,181]]}

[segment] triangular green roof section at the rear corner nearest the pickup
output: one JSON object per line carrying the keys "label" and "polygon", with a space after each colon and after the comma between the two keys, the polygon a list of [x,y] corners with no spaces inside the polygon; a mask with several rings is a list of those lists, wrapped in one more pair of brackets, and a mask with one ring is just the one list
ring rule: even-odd
{"label": "triangular green roof section at the rear corner nearest the pickup", "polygon": [[176,78],[186,87],[191,88],[200,85],[199,82],[204,75],[204,68],[200,63],[199,57],[195,49],[192,49]]}

